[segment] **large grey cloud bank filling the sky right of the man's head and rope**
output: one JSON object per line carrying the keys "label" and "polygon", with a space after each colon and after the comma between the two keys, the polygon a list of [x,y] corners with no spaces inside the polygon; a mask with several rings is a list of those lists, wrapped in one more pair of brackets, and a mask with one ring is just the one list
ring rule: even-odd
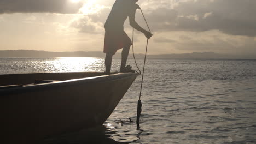
{"label": "large grey cloud bank filling the sky right of the man's head and rope", "polygon": [[[256,1],[183,0],[142,3],[153,31],[210,31],[256,36]],[[154,4],[155,7],[149,4]],[[143,7],[142,7],[143,8]]]}

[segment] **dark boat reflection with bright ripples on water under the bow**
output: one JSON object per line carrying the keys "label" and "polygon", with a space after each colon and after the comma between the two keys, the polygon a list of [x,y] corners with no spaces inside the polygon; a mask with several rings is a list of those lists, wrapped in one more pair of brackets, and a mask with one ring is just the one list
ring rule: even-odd
{"label": "dark boat reflection with bright ripples on water under the bow", "polygon": [[39,144],[49,143],[141,143],[139,142],[139,135],[143,133],[143,130],[133,131],[119,131],[117,127],[114,127],[110,123],[104,123],[98,127],[83,129],[72,133],[67,133],[59,136],[48,137],[39,142]]}

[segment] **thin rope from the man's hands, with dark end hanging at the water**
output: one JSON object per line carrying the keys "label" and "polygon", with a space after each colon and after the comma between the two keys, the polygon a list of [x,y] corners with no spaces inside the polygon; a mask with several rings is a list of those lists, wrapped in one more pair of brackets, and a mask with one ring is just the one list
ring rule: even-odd
{"label": "thin rope from the man's hands, with dark end hanging at the water", "polygon": [[[144,20],[145,20],[145,22],[146,22],[146,24],[147,24],[147,26],[148,26],[148,22],[147,22],[147,20],[146,20],[144,14],[143,14],[143,12],[142,12],[142,9],[141,9],[141,8],[139,8],[139,9],[141,10],[141,13],[142,13],[142,15],[143,15],[143,18],[144,18]],[[151,33],[149,26],[148,26],[148,29],[149,29],[149,32]],[[132,29],[132,52],[133,52],[133,58],[134,58],[135,64],[136,64],[136,66],[137,66],[137,68],[138,68],[138,65],[137,65],[137,62],[136,62],[136,58],[135,58],[135,55],[134,55],[134,44],[133,44],[133,42],[134,42],[134,28]],[[141,117],[141,111],[142,111],[142,108],[141,108],[141,107],[142,107],[142,103],[141,103],[141,92],[142,92],[142,83],[143,83],[144,69],[145,69],[145,64],[146,64],[147,50],[148,50],[148,39],[147,39],[146,52],[145,52],[145,57],[144,57],[144,65],[143,65],[143,71],[142,71],[141,91],[139,92],[139,100],[138,100],[138,104],[137,104],[137,119],[136,119],[137,129],[140,129],[140,128],[139,128],[139,119],[140,119],[140,117]],[[139,74],[141,74],[141,70],[140,70],[139,68],[138,68],[138,70],[139,70]],[[137,71],[136,71],[136,72],[137,72]],[[137,72],[137,73],[138,73],[138,72]]]}

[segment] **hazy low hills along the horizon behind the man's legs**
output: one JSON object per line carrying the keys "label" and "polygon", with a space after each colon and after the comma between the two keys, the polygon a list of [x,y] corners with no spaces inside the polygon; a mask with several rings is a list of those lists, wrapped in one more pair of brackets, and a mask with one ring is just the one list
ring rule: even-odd
{"label": "hazy low hills along the horizon behind the man's legs", "polygon": [[[104,57],[103,52],[49,52],[49,51],[36,51],[36,50],[2,50],[0,57]],[[121,54],[117,53],[114,58],[120,58]],[[137,59],[143,59],[144,54],[135,54]],[[133,58],[130,52],[129,58]],[[147,55],[148,59],[256,59],[256,55],[251,56],[238,56],[226,55],[214,52],[193,52],[182,54],[162,54],[162,55]]]}

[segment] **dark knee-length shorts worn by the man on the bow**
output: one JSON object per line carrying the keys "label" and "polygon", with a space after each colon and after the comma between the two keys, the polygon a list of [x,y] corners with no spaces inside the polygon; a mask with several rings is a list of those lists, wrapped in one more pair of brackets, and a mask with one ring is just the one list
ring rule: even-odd
{"label": "dark knee-length shorts worn by the man on the bow", "polygon": [[131,45],[131,39],[123,29],[105,28],[104,53],[114,55],[117,50]]}

